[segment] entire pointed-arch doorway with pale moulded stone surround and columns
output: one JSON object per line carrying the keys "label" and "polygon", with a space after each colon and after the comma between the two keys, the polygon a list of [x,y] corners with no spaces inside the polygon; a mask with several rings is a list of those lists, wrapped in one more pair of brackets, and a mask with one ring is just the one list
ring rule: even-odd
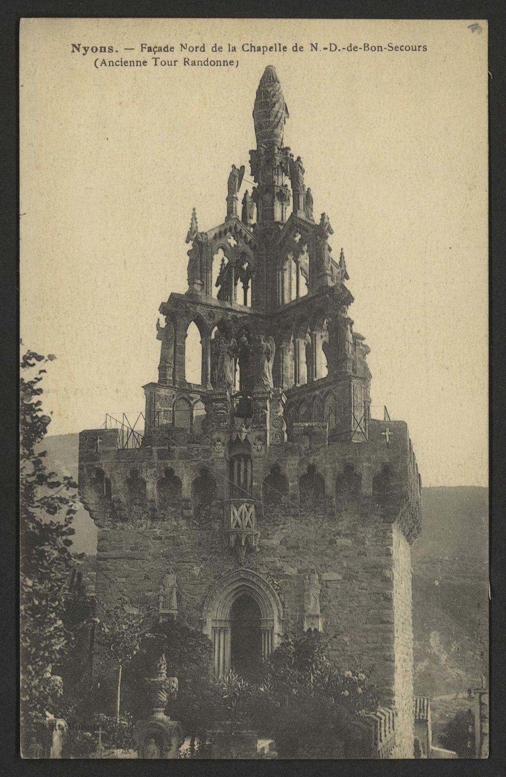
{"label": "entire pointed-arch doorway with pale moulded stone surround and columns", "polygon": [[[270,583],[258,573],[236,570],[211,588],[204,602],[202,621],[202,630],[213,643],[215,677],[222,677],[231,667],[236,668],[234,664],[251,675],[260,657],[270,655],[279,643],[281,601]],[[246,643],[248,634],[253,637],[250,644]]]}

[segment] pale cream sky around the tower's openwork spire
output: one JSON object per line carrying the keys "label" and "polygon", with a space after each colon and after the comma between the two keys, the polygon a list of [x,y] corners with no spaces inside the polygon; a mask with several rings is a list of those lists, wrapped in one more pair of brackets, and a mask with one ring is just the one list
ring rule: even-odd
{"label": "pale cream sky around the tower's openwork spire", "polygon": [[[424,486],[487,485],[487,23],[476,20],[28,19],[20,44],[21,335],[55,354],[51,434],[144,409],[158,308],[187,289],[192,207],[224,221],[255,147],[267,64],[316,216],[344,249],[373,416],[405,420]],[[82,46],[205,44],[233,68],[96,68]],[[310,42],[319,51],[310,52]],[[346,51],[348,44],[427,51]],[[246,44],[286,44],[253,54]],[[344,51],[332,53],[323,47]],[[211,54],[211,45],[237,53]],[[292,51],[293,45],[304,51]],[[134,52],[124,48],[134,47]],[[242,193],[241,193],[242,194]]]}

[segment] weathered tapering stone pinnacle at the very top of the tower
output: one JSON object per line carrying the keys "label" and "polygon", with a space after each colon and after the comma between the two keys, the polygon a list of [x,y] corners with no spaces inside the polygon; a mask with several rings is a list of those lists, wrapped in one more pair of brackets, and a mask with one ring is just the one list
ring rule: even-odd
{"label": "weathered tapering stone pinnacle at the very top of the tower", "polygon": [[284,122],[288,119],[288,107],[284,102],[283,92],[277,73],[271,64],[263,71],[258,89],[256,89],[255,105],[253,107],[253,123],[255,124],[256,144],[283,145]]}

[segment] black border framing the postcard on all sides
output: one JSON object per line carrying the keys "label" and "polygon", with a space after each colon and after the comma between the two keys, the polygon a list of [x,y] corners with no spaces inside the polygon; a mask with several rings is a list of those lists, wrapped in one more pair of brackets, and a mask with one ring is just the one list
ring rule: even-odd
{"label": "black border framing the postcard on all sides", "polygon": [[[4,0],[0,9],[0,131],[2,132],[2,189],[0,190],[0,223],[2,224],[2,283],[0,283],[2,323],[2,372],[5,389],[2,391],[2,542],[0,542],[0,602],[2,604],[0,664],[4,677],[0,682],[2,702],[0,710],[0,767],[5,774],[30,775],[98,775],[107,769],[110,775],[145,773],[146,761],[23,761],[18,755],[18,667],[17,667],[17,379],[19,341],[19,133],[18,133],[18,55],[19,19],[22,17],[222,17],[222,18],[311,18],[311,19],[488,19],[489,20],[489,95],[490,95],[490,486],[492,489],[490,514],[490,653],[493,686],[490,709],[490,758],[483,761],[173,761],[170,765],[148,762],[150,775],[173,774],[257,774],[272,775],[490,775],[502,777],[506,773],[504,748],[504,300],[506,284],[504,272],[505,230],[504,190],[506,189],[506,4],[504,0],[334,0],[319,2],[310,7],[304,2],[276,5],[236,2],[226,8],[211,0],[185,0],[170,5],[161,0],[146,0],[139,7],[132,0]],[[303,21],[301,22],[303,24]],[[469,311],[473,315],[473,311]],[[486,343],[483,343],[483,348]],[[492,361],[494,353],[494,361]],[[466,380],[466,375],[462,375]],[[493,413],[492,408],[495,409]],[[473,419],[462,419],[473,423]],[[458,434],[458,430],[455,430]],[[502,600],[502,601],[501,601]],[[190,765],[191,764],[191,765]],[[3,769],[0,768],[0,773]]]}

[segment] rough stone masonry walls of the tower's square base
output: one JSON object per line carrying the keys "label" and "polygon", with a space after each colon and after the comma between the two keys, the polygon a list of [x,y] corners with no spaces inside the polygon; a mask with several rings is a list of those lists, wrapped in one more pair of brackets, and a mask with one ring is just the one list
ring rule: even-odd
{"label": "rough stone masonry walls of the tower's square base", "polygon": [[[327,446],[319,437],[313,444],[309,437],[305,444],[271,446],[260,455],[253,451],[260,541],[244,564],[277,592],[284,633],[302,631],[304,578],[313,571],[319,574],[323,632],[330,637],[333,657],[344,669],[357,664],[375,667],[372,679],[382,706],[394,707],[397,713],[396,756],[412,758],[410,545],[402,517],[410,510],[407,497],[414,486],[408,489],[406,427],[400,422],[392,425],[396,445],[389,448],[377,431],[364,445]],[[96,594],[110,604],[127,594],[155,617],[163,577],[176,573],[178,618],[202,629],[211,587],[241,566],[229,548],[220,501],[227,498],[228,462],[223,448],[218,452],[204,441],[179,444],[171,439],[176,444],[153,438],[153,447],[118,450],[113,432],[82,433],[80,493],[99,526]],[[393,477],[388,499],[373,490],[375,476],[386,462]],[[273,465],[286,476],[287,493],[281,504],[269,507],[262,505],[262,483]],[[309,465],[322,477],[325,496],[319,504],[301,507],[299,482]],[[110,497],[97,491],[96,467],[110,479]],[[161,503],[156,485],[167,467],[181,480],[180,497],[171,504]],[[215,478],[216,501],[199,514],[191,495],[202,467]],[[132,468],[146,483],[144,507],[136,505],[133,512],[126,485]]]}

